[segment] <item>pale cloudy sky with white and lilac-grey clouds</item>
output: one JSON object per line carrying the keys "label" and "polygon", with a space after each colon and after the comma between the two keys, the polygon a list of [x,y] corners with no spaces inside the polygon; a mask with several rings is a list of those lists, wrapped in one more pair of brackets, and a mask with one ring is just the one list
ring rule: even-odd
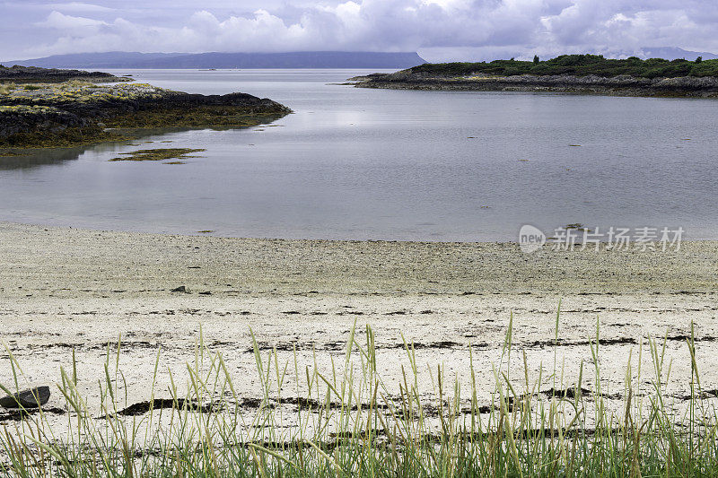
{"label": "pale cloudy sky with white and lilac-grey clouds", "polygon": [[430,61],[680,47],[715,0],[0,0],[0,58],[99,51],[418,51]]}

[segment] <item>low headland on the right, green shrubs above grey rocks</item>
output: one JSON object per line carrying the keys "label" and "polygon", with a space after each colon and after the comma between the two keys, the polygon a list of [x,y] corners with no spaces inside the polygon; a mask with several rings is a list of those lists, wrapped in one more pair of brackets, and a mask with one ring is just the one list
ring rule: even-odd
{"label": "low headland on the right, green shrubs above grey rocks", "polygon": [[495,60],[414,66],[394,74],[357,76],[358,88],[532,91],[614,96],[718,97],[718,60],[608,59],[562,55],[547,61]]}

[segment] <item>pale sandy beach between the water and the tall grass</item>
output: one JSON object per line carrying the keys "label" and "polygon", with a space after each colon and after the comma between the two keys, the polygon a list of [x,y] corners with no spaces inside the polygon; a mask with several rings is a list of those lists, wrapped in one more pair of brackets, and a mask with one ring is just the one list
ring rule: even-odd
{"label": "pale sandy beach between the water and the tall grass", "polygon": [[[684,242],[678,252],[525,255],[512,243],[227,239],[0,222],[0,341],[28,386],[57,383],[61,367],[72,369],[74,350],[78,388],[99,409],[98,380],[108,346],[114,353],[120,337],[125,381],[118,387],[130,405],[148,398],[160,349],[155,395],[163,396],[170,371],[185,383],[200,327],[241,395],[252,397],[259,390],[250,329],[263,351],[276,347],[289,361],[295,348],[302,368],[316,360],[326,370],[332,357],[343,357],[351,327],[370,325],[390,387],[407,363],[403,334],[415,344],[428,390],[427,370],[437,364],[467,383],[471,344],[487,400],[511,319],[512,373],[523,377],[522,352],[531,380],[553,369],[560,300],[556,357],[566,384],[575,382],[581,361],[592,367],[589,339],[598,321],[609,391],[619,397],[629,354],[636,367],[642,348],[646,386],[647,339],[667,336],[669,390],[680,395],[690,375],[691,322],[704,388],[718,381],[710,367],[718,352],[716,265],[718,242],[708,241]],[[180,286],[188,292],[172,291]],[[2,355],[0,383],[9,386],[12,370]],[[57,407],[58,420],[63,404],[55,387],[48,405]],[[0,413],[0,422],[8,420]]]}

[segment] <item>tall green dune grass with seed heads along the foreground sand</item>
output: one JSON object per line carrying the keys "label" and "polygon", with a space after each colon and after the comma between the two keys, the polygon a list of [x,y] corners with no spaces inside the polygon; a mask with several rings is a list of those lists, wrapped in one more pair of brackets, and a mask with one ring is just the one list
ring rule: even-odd
{"label": "tall green dune grass with seed heads along the foreground sand", "polygon": [[[508,365],[521,351],[508,327],[492,370],[495,387],[480,404],[473,360],[468,396],[458,382],[432,369],[433,386],[419,385],[416,354],[404,342],[401,383],[389,384],[377,371],[372,328],[350,332],[346,353],[322,373],[280,361],[254,341],[257,378],[263,394],[248,406],[221,353],[197,340],[188,362],[186,390],[172,379],[171,398],[158,399],[156,380],[146,413],[123,403],[118,369],[121,343],[108,348],[101,410],[90,410],[77,390],[77,364],[61,372],[57,390],[66,402],[66,430],[52,430],[45,413],[30,415],[0,433],[0,474],[45,476],[713,476],[718,474],[716,415],[702,393],[696,348],[687,340],[692,373],[682,412],[666,394],[670,361],[666,341],[649,340],[652,386],[639,389],[638,370],[626,364],[623,406],[606,402],[601,381],[599,329],[591,340],[592,368],[582,365],[568,387],[554,374],[531,382],[525,353],[524,377],[509,377]],[[252,335],[252,337],[254,337]],[[642,347],[643,349],[643,347]],[[467,351],[471,353],[470,349]],[[640,352],[639,352],[640,353]],[[14,383],[20,365],[9,352]],[[513,355],[513,358],[512,358]],[[155,378],[160,352],[155,361]],[[638,361],[640,363],[640,360]],[[288,373],[293,372],[293,373]],[[482,373],[486,373],[484,370]],[[592,389],[584,389],[584,376]],[[293,377],[293,384],[288,383]],[[542,387],[551,385],[551,392]],[[180,392],[180,389],[184,391]],[[288,397],[287,390],[295,395]],[[433,399],[427,401],[427,394]],[[542,398],[543,397],[543,398]],[[127,398],[125,397],[125,400]],[[169,408],[168,408],[169,407]],[[287,413],[287,407],[292,408]],[[131,408],[131,407],[130,407]],[[141,407],[140,407],[141,408]],[[162,426],[160,426],[162,423]]]}

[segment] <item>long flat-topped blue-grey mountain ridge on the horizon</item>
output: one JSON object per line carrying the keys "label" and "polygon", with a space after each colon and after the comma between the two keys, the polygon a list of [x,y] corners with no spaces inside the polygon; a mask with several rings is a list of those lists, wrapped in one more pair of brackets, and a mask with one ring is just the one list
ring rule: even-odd
{"label": "long flat-topped blue-grey mountain ridge on the horizon", "polygon": [[46,68],[409,68],[416,52],[297,51],[287,53],[77,53],[0,64]]}

